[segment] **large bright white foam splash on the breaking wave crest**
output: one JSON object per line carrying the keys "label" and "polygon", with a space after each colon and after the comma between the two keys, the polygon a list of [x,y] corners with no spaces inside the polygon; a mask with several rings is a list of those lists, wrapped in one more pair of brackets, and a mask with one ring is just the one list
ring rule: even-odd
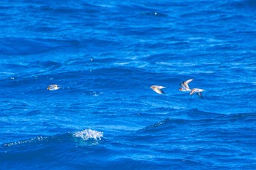
{"label": "large bright white foam splash on the breaking wave crest", "polygon": [[86,129],[84,131],[76,132],[75,134],[73,134],[73,136],[81,138],[86,141],[88,139],[101,140],[101,138],[103,137],[103,132]]}

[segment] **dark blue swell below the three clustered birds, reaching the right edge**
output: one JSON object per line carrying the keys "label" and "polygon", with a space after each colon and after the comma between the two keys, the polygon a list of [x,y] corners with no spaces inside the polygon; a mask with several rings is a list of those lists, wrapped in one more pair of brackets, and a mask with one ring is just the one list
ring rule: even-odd
{"label": "dark blue swell below the three clustered birds, reaching the right edge", "polygon": [[189,109],[183,112],[178,112],[178,115],[184,116],[173,118],[176,117],[176,115],[173,115],[172,118],[167,117],[164,120],[160,120],[157,123],[153,123],[136,131],[136,134],[154,134],[157,131],[162,133],[164,131],[173,131],[173,129],[184,129],[184,131],[187,131],[189,128],[200,129],[200,127],[205,126],[211,128],[212,131],[215,131],[215,133],[218,134],[219,131],[217,131],[217,129],[222,129],[221,127],[225,127],[225,129],[230,128],[230,130],[237,128],[244,129],[244,124],[249,125],[250,127],[246,128],[252,131],[252,127],[254,126],[252,123],[256,120],[255,113],[239,113],[227,115],[213,112],[203,112],[197,109]]}

